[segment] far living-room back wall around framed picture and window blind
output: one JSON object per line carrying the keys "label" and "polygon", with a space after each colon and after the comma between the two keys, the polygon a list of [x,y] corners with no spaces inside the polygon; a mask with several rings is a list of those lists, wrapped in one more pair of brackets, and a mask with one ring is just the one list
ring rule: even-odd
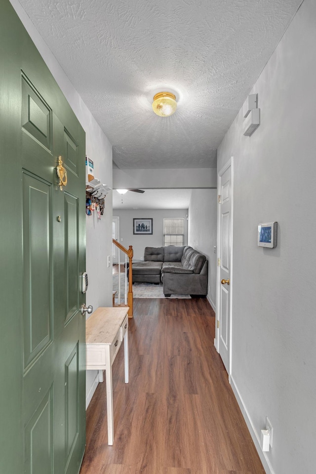
{"label": "far living-room back wall around framed picture and window blind", "polygon": [[[145,195],[144,195],[145,196]],[[184,218],[184,239],[185,245],[188,244],[188,221],[186,219],[188,209],[113,209],[113,215],[119,217],[119,234],[120,243],[128,249],[129,245],[133,246],[134,259],[141,260],[144,258],[145,247],[162,247],[163,218]],[[153,235],[134,235],[133,219],[152,218],[153,219]],[[120,252],[120,261],[125,261],[124,255]],[[123,260],[124,259],[124,260]]]}

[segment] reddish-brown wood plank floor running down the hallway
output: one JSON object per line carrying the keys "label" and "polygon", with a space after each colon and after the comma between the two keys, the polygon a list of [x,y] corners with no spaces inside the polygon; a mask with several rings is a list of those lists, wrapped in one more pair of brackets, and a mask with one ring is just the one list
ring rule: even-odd
{"label": "reddish-brown wood plank floor running down the hallway", "polygon": [[103,382],[87,409],[80,474],[264,474],[207,300],[135,299],[129,323],[129,384],[123,347],[113,365],[114,445]]}

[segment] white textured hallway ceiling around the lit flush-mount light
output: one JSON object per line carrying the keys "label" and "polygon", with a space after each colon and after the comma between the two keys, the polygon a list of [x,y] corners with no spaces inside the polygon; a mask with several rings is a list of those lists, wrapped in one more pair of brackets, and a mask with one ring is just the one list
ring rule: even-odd
{"label": "white textured hallway ceiling around the lit flush-mount light", "polygon": [[[218,145],[301,1],[20,3],[119,168],[207,168],[216,167]],[[178,101],[168,118],[151,108],[161,90]]]}

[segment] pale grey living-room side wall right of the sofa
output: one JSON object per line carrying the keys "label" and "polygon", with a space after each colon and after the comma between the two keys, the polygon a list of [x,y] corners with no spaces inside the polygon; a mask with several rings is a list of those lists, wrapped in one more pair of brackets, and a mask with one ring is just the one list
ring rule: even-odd
{"label": "pale grey living-room side wall right of the sofa", "polygon": [[189,204],[188,243],[208,259],[207,299],[216,311],[217,190],[193,189]]}

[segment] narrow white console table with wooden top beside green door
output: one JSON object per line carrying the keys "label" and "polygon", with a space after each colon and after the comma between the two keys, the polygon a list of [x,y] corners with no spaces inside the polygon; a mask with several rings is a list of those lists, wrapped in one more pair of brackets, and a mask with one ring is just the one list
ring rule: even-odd
{"label": "narrow white console table with wooden top beside green door", "polygon": [[112,364],[124,340],[125,384],[128,383],[128,307],[98,308],[85,323],[86,369],[99,371],[103,382],[106,371],[108,443],[113,444]]}

